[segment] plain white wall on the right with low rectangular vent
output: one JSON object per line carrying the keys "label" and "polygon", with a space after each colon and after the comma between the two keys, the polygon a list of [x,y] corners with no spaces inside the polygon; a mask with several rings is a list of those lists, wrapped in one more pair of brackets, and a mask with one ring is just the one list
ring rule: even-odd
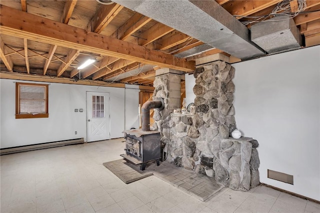
{"label": "plain white wall on the right with low rectangular vent", "polygon": [[320,46],[232,65],[236,125],[260,144],[260,182],[320,200]]}

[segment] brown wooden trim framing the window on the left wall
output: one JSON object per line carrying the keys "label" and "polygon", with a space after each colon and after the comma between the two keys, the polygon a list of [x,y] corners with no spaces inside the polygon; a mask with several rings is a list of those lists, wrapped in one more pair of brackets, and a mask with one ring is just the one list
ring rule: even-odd
{"label": "brown wooden trim framing the window on the left wall", "polygon": [[[45,113],[31,114],[31,113],[23,113],[20,114],[20,86],[39,86],[44,87],[45,92]],[[23,82],[15,82],[15,118],[42,118],[49,117],[48,113],[48,84],[41,83],[23,83]]]}

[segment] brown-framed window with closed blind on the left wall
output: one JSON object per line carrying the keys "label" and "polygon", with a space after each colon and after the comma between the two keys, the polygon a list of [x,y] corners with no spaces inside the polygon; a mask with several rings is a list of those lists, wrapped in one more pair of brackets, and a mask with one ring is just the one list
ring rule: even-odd
{"label": "brown-framed window with closed blind on the left wall", "polygon": [[15,118],[49,117],[48,84],[15,83]]}

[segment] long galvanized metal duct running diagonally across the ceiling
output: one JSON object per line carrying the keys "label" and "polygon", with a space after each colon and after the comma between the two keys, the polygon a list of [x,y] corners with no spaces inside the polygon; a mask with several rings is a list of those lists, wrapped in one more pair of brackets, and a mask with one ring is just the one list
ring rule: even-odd
{"label": "long galvanized metal duct running diagonally across the ceiling", "polygon": [[212,47],[246,59],[264,54],[249,29],[214,0],[113,0]]}

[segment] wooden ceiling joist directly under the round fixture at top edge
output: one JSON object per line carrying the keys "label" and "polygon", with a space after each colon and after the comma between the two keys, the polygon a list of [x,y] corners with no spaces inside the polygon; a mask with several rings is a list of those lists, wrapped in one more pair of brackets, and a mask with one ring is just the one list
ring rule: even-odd
{"label": "wooden ceiling joist directly under the round fixture at top edge", "polygon": [[91,19],[91,31],[100,33],[122,8],[123,6],[117,3],[102,4]]}

